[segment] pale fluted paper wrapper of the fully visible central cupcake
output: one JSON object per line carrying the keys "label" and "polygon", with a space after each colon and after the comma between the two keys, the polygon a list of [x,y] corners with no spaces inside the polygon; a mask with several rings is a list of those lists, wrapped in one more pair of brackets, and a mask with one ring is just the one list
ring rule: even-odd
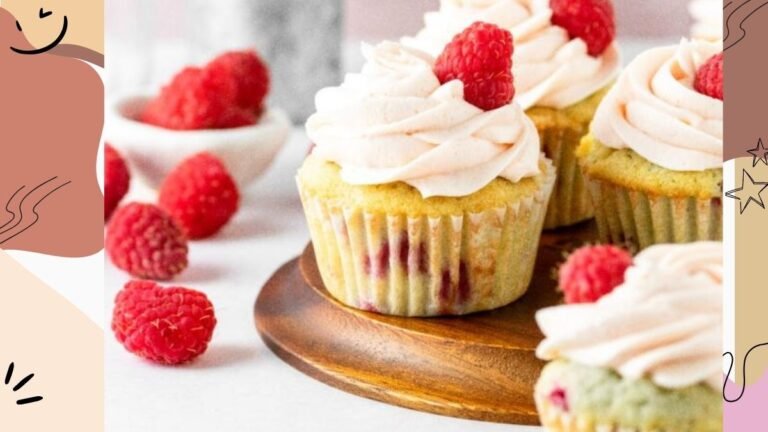
{"label": "pale fluted paper wrapper of the fully visible central cupcake", "polygon": [[338,207],[302,191],[323,282],[340,302],[387,315],[505,306],[533,274],[554,170],[546,175],[514,205],[441,217]]}

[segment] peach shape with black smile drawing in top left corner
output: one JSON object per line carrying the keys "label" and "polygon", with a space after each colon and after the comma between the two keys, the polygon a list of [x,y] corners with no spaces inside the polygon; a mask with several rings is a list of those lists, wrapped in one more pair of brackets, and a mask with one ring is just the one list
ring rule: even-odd
{"label": "peach shape with black smile drawing in top left corner", "polygon": [[35,48],[56,40],[66,17],[67,32],[54,53],[104,65],[103,0],[2,0],[0,6],[16,17]]}

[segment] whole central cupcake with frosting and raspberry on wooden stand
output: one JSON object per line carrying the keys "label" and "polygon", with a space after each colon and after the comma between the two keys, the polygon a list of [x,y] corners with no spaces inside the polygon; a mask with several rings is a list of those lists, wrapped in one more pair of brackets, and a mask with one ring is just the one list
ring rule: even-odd
{"label": "whole central cupcake with frosting and raspberry on wooden stand", "polygon": [[[362,72],[317,95],[297,182],[323,282],[346,305],[460,315],[528,287],[555,172],[512,101],[509,56],[489,46],[511,51],[511,35],[478,23],[454,42],[438,60],[364,46]],[[462,49],[475,61],[451,61]]]}

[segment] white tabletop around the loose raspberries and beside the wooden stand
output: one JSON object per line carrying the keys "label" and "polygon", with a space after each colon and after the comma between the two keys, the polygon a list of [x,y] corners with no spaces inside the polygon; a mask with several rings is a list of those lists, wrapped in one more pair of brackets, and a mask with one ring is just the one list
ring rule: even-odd
{"label": "white tabletop around the loose raspberries and beside the wooden stand", "polygon": [[[217,237],[191,244],[190,267],[175,284],[205,292],[218,325],[208,351],[182,367],[160,367],[126,352],[105,332],[106,430],[115,431],[531,431],[423,414],[353,396],[278,359],[253,324],[266,280],[306,245],[293,176],[306,153],[302,132],[247,191],[241,211]],[[105,311],[128,276],[105,269]]]}

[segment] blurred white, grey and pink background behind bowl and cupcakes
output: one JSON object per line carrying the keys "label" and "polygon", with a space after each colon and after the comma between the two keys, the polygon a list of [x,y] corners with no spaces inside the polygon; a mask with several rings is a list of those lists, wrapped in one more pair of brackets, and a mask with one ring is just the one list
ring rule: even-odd
{"label": "blurred white, grey and pink background behind bowl and cupcakes", "polygon": [[[692,24],[687,0],[614,0],[624,59],[675,42]],[[272,68],[272,102],[297,124],[315,92],[360,67],[360,41],[416,33],[438,0],[110,0],[109,92],[155,89],[187,64],[256,47]],[[152,13],[147,13],[151,10]],[[659,13],[663,11],[663,13]]]}

